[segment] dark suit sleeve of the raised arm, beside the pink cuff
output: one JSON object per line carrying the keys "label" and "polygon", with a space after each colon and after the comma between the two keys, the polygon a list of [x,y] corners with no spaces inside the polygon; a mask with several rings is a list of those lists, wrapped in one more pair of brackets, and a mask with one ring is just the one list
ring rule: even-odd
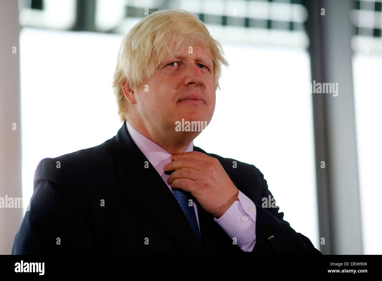
{"label": "dark suit sleeve of the raised arm, beside the pink cuff", "polygon": [[[261,198],[254,200],[260,202],[262,198],[273,198],[268,189],[264,175],[256,168],[261,176]],[[275,203],[275,200],[273,201]],[[283,219],[284,213],[278,212],[279,208],[263,208],[261,203],[256,205],[256,243],[251,253],[253,254],[276,254],[277,250],[272,246],[268,237],[273,235],[282,254],[311,254],[322,255],[314,248],[308,237],[296,232],[290,224]],[[275,205],[275,204],[274,204]]]}

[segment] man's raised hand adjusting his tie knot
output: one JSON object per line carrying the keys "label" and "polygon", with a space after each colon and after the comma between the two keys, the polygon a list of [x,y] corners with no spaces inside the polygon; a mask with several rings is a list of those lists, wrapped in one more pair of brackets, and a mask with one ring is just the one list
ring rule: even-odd
{"label": "man's raised hand adjusting his tie knot", "polygon": [[218,159],[198,151],[173,154],[174,161],[163,166],[174,171],[167,179],[172,188],[190,192],[208,213],[220,218],[239,200],[239,190],[232,183]]}

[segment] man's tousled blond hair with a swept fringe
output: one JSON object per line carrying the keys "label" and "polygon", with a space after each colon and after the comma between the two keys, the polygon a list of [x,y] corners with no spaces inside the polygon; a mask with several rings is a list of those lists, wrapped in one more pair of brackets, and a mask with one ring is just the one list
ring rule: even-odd
{"label": "man's tousled blond hair with a swept fringe", "polygon": [[215,91],[220,89],[221,65],[229,65],[220,42],[210,36],[204,23],[193,13],[182,9],[156,11],[134,25],[121,42],[112,84],[121,122],[127,119],[129,107],[121,83],[128,83],[131,89],[140,88],[163,58],[172,55],[173,47],[179,50],[189,42],[199,43],[209,51]]}

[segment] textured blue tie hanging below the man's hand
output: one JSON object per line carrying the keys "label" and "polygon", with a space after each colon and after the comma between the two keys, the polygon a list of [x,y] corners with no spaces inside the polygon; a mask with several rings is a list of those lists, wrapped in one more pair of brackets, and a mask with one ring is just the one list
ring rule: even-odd
{"label": "textured blue tie hanging below the man's hand", "polygon": [[[173,171],[166,172],[166,175],[170,175]],[[202,238],[200,236],[200,231],[199,231],[199,226],[197,225],[197,219],[196,219],[196,214],[195,214],[195,209],[194,209],[194,200],[192,206],[188,206],[188,202],[191,198],[191,193],[186,192],[181,189],[172,189],[176,201],[178,201],[180,208],[182,209],[183,213],[185,213],[186,218],[188,220],[188,223],[191,225],[197,240],[199,241],[200,244],[202,244]]]}

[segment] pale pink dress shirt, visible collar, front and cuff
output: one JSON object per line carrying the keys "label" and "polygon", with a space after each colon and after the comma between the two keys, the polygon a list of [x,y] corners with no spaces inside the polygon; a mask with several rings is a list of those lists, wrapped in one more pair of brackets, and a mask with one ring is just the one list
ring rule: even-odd
{"label": "pale pink dress shirt, visible collar, front and cuff", "polygon": [[[162,177],[165,184],[172,192],[171,185],[167,184],[168,175],[165,174],[163,166],[171,162],[171,154],[159,145],[142,135],[136,128],[126,120],[127,130],[134,143],[142,151],[147,160],[154,166],[155,170]],[[188,145],[183,152],[194,150],[194,142]],[[256,243],[256,206],[251,199],[239,190],[239,201],[233,202],[230,208],[219,219],[214,218],[215,222],[222,227],[223,231],[232,239],[232,242],[240,247],[244,252],[252,252]],[[194,210],[197,223],[199,226],[199,218],[197,216],[196,204]],[[200,231],[200,226],[199,226]],[[200,233],[203,237],[203,233]],[[236,239],[234,239],[236,238]]]}

